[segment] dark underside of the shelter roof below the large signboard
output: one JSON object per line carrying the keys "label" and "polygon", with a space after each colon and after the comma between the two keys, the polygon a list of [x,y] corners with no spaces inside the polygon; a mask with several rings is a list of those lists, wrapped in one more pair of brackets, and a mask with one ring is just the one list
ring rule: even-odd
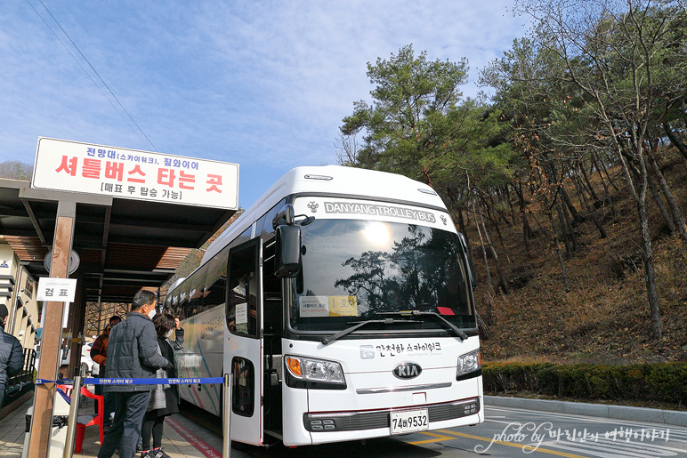
{"label": "dark underside of the shelter roof below the large signboard", "polygon": [[76,202],[72,249],[80,257],[86,301],[130,302],[141,287],[158,288],[193,248],[235,210],[30,189],[0,179],[0,237],[34,277],[48,275],[57,205]]}

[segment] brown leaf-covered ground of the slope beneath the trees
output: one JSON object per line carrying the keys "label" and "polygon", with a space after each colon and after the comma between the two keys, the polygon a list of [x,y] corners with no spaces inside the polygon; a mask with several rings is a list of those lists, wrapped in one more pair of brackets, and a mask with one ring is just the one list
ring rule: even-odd
{"label": "brown leaf-covered ground of the slope beneath the trees", "polygon": [[[685,159],[674,150],[660,152],[659,157],[661,173],[680,196],[679,206],[687,207]],[[618,180],[620,172],[619,167],[611,168],[610,176]],[[582,192],[573,183],[565,185],[570,188],[567,192],[578,212],[578,222],[570,221],[572,237],[567,247],[558,242],[560,253],[541,205],[527,203],[533,223],[529,250],[522,242],[521,225],[513,222],[516,214],[504,214],[499,229],[503,243],[498,235],[494,243],[509,293],[500,285],[496,293],[488,293],[481,245],[475,241],[479,237],[471,221],[468,234],[480,281],[475,301],[480,313],[491,317],[489,340],[482,343],[485,360],[589,364],[687,361],[687,245],[671,232],[658,205],[650,202],[649,230],[662,329],[657,339],[651,330],[636,205],[625,189],[610,193],[613,206],[594,210],[606,231],[602,238],[593,217],[584,210],[584,199],[589,198],[584,193],[591,189],[603,192],[603,187],[601,180],[594,178],[590,185]],[[487,230],[495,232],[487,221]],[[562,237],[561,226],[554,222],[554,227]],[[489,256],[488,262],[496,286],[496,260]]]}

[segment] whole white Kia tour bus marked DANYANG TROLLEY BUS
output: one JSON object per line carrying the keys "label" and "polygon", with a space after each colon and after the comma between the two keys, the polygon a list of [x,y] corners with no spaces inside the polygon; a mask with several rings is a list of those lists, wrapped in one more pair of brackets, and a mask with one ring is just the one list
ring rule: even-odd
{"label": "whole white Kia tour bus marked DANYANG TROLLEY BUS", "polygon": [[[484,421],[474,276],[432,188],[298,167],[167,293],[180,377],[234,375],[231,439],[285,446]],[[221,413],[220,385],[181,396]]]}

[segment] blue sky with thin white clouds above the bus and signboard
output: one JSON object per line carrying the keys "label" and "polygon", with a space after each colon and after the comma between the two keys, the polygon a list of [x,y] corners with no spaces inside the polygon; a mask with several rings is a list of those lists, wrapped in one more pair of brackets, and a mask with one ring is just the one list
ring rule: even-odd
{"label": "blue sky with thin white clouds above the bus and signboard", "polygon": [[368,61],[465,57],[473,96],[526,33],[509,0],[42,3],[0,9],[0,162],[33,164],[40,136],[233,162],[245,208],[292,167],[336,164]]}

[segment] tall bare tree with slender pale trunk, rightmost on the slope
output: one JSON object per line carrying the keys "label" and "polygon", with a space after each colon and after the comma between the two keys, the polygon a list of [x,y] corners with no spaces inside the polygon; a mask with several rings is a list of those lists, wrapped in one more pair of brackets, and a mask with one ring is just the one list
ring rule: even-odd
{"label": "tall bare tree with slender pale trunk, rightmost on the slope", "polygon": [[[622,165],[637,208],[651,331],[660,338],[646,204],[651,151],[645,143],[651,125],[657,125],[657,111],[672,106],[677,100],[672,94],[683,97],[687,89],[687,79],[671,68],[683,65],[687,11],[679,1],[651,0],[519,0],[516,10],[535,21],[532,40],[538,54],[559,62],[548,67],[546,78],[569,84],[579,93],[586,113],[597,121],[591,132],[594,139],[587,134],[589,143],[613,149]],[[570,136],[557,140],[569,144]]]}

